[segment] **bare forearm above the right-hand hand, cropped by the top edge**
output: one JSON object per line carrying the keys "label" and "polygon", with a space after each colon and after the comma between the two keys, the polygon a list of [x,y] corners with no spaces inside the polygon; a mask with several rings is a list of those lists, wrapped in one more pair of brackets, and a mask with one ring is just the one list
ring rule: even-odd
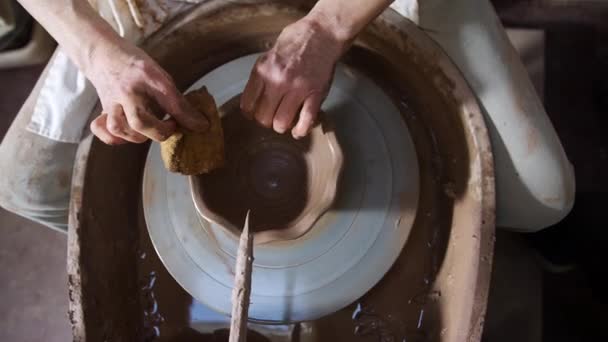
{"label": "bare forearm above the right-hand hand, cropped by the top edge", "polygon": [[320,0],[309,17],[329,30],[345,45],[354,38],[393,0]]}

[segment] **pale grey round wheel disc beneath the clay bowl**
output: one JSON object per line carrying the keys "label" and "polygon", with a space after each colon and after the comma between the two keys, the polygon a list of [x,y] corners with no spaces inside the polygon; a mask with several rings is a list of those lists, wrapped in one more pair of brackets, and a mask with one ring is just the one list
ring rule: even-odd
{"label": "pale grey round wheel disc beneath the clay bowl", "polygon": [[[218,105],[241,93],[258,55],[233,60],[191,89]],[[369,79],[339,65],[323,111],[344,154],[338,195],[303,237],[256,246],[251,319],[310,320],[371,289],[403,248],[418,204],[418,164],[400,112]],[[164,265],[194,298],[228,314],[238,239],[202,219],[187,177],[165,170],[159,145],[147,156],[144,213]]]}

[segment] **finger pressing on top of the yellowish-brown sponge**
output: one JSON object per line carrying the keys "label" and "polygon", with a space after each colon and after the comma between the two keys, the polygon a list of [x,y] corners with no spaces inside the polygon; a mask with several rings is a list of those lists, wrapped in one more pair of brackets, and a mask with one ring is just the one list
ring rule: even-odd
{"label": "finger pressing on top of the yellowish-brown sponge", "polygon": [[192,107],[171,81],[154,83],[150,93],[158,105],[173,117],[180,126],[195,132],[204,132],[209,128],[209,119],[205,116],[205,113],[201,113]]}

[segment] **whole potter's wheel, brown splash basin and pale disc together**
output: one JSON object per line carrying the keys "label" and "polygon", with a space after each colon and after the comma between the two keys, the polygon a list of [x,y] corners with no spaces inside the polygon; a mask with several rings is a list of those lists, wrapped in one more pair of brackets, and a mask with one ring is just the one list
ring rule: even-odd
{"label": "whole potter's wheel, brown splash basin and pale disc together", "polygon": [[[144,48],[181,89],[204,84],[223,105],[242,91],[256,55],[310,6],[206,1]],[[304,235],[256,247],[252,318],[315,319],[306,331],[317,341],[371,338],[353,336],[355,327],[396,341],[478,341],[494,171],[483,117],[458,70],[387,11],[343,58],[323,110],[344,155],[335,202]],[[234,234],[197,215],[188,178],[167,173],[157,149],[91,139],[80,147],[69,230],[77,340],[144,339],[152,311],[142,316],[151,296],[142,279],[156,286],[151,307],[169,340],[198,317],[170,314],[177,303],[229,312]],[[157,254],[162,264],[151,262]]]}

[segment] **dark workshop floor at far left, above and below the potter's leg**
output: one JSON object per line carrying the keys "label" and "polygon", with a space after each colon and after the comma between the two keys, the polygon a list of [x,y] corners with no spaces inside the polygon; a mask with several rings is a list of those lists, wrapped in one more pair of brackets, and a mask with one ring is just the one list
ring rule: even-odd
{"label": "dark workshop floor at far left, above and below the potter's leg", "polygon": [[[41,71],[41,67],[0,71],[0,84],[4,85],[0,136],[6,133]],[[66,235],[3,209],[0,234],[0,341],[71,340]]]}

